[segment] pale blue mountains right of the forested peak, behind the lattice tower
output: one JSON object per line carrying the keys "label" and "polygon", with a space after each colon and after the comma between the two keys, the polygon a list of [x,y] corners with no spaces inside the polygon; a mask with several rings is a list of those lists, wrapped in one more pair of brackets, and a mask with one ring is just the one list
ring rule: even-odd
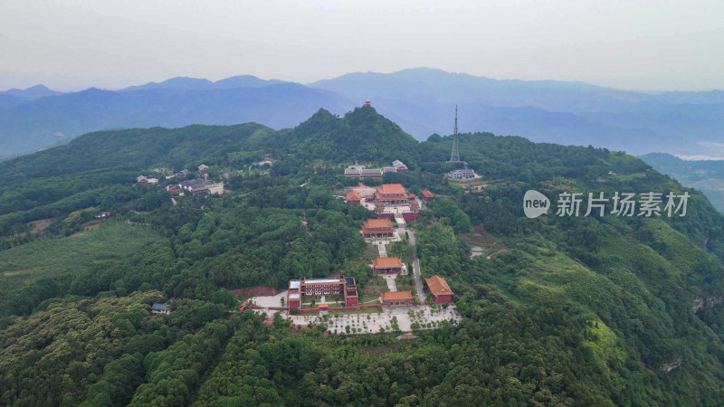
{"label": "pale blue mountains right of the forested peak, behind the lattice tower", "polygon": [[348,99],[372,99],[417,138],[449,134],[461,107],[463,131],[515,134],[535,141],[623,149],[711,153],[724,133],[724,92],[616,90],[583,82],[492,80],[427,68],[349,73],[310,86]]}

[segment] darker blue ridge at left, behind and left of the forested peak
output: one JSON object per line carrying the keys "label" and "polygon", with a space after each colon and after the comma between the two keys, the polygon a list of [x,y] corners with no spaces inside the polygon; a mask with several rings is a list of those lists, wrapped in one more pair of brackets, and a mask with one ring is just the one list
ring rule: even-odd
{"label": "darker blue ridge at left, behind and left of the forested peak", "polygon": [[320,106],[334,112],[348,110],[349,103],[335,93],[277,82],[248,77],[216,83],[174,79],[126,90],[91,88],[15,104],[0,109],[0,156],[51,147],[102,129],[250,121],[290,128]]}

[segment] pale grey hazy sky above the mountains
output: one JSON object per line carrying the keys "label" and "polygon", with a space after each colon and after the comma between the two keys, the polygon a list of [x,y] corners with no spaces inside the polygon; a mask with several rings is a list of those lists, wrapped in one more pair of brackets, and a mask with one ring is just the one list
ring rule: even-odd
{"label": "pale grey hazy sky above the mountains", "polygon": [[724,89],[722,0],[0,0],[0,90],[427,66],[635,90]]}

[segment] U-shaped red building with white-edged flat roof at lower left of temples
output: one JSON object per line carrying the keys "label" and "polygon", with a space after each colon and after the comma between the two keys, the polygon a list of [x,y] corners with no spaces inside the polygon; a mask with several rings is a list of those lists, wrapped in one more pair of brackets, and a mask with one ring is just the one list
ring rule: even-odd
{"label": "U-shaped red building with white-edged flat roof at lower left of temples", "polygon": [[287,305],[290,309],[301,308],[301,298],[304,296],[331,296],[343,295],[345,307],[358,307],[359,295],[357,282],[354,277],[341,277],[339,279],[292,279],[289,282]]}

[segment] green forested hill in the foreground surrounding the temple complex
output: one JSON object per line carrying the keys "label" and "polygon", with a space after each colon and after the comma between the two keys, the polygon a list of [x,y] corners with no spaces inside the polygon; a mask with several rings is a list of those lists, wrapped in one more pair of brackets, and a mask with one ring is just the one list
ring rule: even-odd
{"label": "green forested hill in the foreground surrounding the temple complex", "polygon": [[[720,405],[724,305],[692,308],[724,296],[724,218],[702,194],[622,153],[463,134],[479,190],[443,179],[451,147],[451,137],[417,144],[361,108],[344,118],[320,110],[276,132],[250,124],[94,133],[0,163],[12,181],[0,195],[0,270],[40,264],[33,256],[62,261],[71,249],[92,254],[97,243],[77,233],[101,210],[115,220],[90,233],[110,233],[110,244],[124,225],[144,231],[142,246],[58,275],[48,269],[22,286],[0,275],[0,402]],[[254,164],[265,154],[271,166]],[[384,181],[438,196],[414,225],[417,251],[425,275],[447,276],[462,322],[399,341],[225,312],[237,306],[227,289],[283,289],[292,277],[334,271],[366,282],[358,225],[371,213],[332,196],[357,183],[338,167],[355,159],[402,159],[412,171]],[[174,204],[159,186],[131,185],[158,166],[201,163],[229,194]],[[61,181],[68,186],[43,194]],[[529,189],[551,199],[691,197],[683,217],[559,217],[554,208],[528,219]],[[28,224],[39,219],[50,223],[44,238]],[[465,240],[484,232],[505,250],[471,258]],[[151,302],[171,298],[171,316],[149,317]]]}

